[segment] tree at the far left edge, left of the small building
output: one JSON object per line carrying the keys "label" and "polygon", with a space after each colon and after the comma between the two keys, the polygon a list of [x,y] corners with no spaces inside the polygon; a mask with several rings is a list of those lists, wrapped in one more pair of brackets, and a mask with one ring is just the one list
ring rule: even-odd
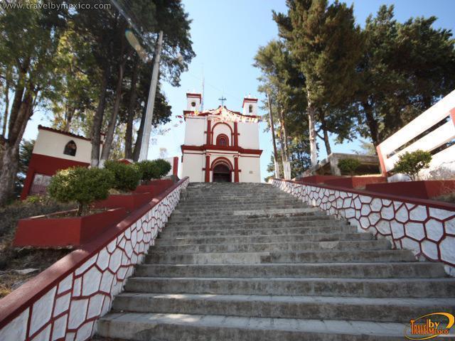
{"label": "tree at the far left edge, left of the small building", "polygon": [[14,193],[19,146],[28,119],[55,87],[53,67],[65,13],[38,6],[27,11],[1,4],[0,8],[0,70],[4,72],[0,78],[12,94],[0,136],[0,205],[4,205]]}

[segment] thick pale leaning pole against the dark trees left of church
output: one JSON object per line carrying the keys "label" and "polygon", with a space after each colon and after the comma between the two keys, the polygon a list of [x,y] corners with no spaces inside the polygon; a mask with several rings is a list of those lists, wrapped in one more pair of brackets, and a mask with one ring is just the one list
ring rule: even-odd
{"label": "thick pale leaning pole against the dark trees left of church", "polygon": [[145,113],[144,134],[142,134],[141,151],[139,153],[139,161],[147,159],[149,154],[150,134],[151,134],[151,121],[154,117],[156,85],[158,84],[159,75],[159,60],[161,57],[161,45],[163,45],[163,31],[159,32],[158,42],[155,48],[155,63],[154,70],[151,73],[151,83],[149,90],[149,99],[147,100],[147,109]]}

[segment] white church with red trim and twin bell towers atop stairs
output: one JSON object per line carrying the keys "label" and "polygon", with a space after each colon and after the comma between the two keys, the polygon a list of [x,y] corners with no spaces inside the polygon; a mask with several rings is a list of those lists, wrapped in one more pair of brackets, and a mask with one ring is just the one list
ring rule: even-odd
{"label": "white church with red trim and twin bell towers atop stairs", "polygon": [[201,101],[201,94],[186,94],[182,178],[196,183],[260,183],[257,98],[245,97],[242,113],[223,104],[203,111]]}

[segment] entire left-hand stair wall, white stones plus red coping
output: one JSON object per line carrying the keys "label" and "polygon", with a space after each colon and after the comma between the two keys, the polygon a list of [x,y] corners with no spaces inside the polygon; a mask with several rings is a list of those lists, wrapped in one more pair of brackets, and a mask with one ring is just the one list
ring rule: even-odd
{"label": "entire left-hand stair wall, white stones plus red coping", "polygon": [[[0,300],[0,340],[89,340],[186,188],[183,178]],[[64,227],[62,227],[64,228]]]}

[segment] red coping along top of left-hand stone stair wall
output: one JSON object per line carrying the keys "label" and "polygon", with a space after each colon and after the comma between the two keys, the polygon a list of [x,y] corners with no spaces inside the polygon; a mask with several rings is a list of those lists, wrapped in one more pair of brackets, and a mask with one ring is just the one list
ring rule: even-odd
{"label": "red coping along top of left-hand stone stair wall", "polygon": [[[107,244],[122,234],[125,229],[141,219],[146,212],[149,212],[149,210],[159,204],[161,200],[164,200],[164,198],[173,190],[178,188],[178,186],[183,185],[187,179],[188,177],[178,181],[178,183],[175,183],[163,193],[154,197],[151,202],[148,202],[146,205],[129,214],[122,222],[107,229],[92,242],[85,244],[80,249],[66,255],[48,267],[48,269],[45,269],[45,271],[38,276],[31,278],[31,280],[24,283],[8,296],[1,298],[0,329],[4,328],[11,320],[14,320],[14,318],[20,315],[23,310],[32,307],[33,303],[38,301],[45,293],[48,293],[50,288],[56,286],[66,276],[72,274],[80,265],[90,259],[90,257],[101,251],[103,247],[106,247]],[[30,318],[28,320],[30,321]]]}

